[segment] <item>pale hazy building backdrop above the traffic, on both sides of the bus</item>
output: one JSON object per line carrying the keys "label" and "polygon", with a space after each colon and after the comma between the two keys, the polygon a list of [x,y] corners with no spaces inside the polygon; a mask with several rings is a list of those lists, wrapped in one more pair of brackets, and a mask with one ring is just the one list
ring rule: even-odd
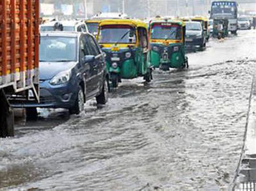
{"label": "pale hazy building backdrop above the traffic, on both sides of the bus", "polygon": [[[40,0],[41,16],[85,18],[99,12],[120,12],[131,17],[208,16],[213,0]],[[244,12],[256,12],[255,0],[237,0]]]}

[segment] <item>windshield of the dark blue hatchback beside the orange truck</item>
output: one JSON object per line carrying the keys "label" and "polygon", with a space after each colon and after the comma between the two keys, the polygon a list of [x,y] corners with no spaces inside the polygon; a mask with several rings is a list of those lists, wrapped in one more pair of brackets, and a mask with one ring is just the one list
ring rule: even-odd
{"label": "windshield of the dark blue hatchback beside the orange truck", "polygon": [[71,37],[41,37],[41,62],[77,61],[77,39]]}

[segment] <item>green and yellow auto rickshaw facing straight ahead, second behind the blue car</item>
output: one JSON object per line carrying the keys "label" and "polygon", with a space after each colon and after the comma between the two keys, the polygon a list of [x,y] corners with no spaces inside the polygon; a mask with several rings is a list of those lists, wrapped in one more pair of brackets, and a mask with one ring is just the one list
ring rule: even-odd
{"label": "green and yellow auto rickshaw facing straight ahead, second behind the blue car", "polygon": [[169,70],[188,67],[185,55],[185,26],[182,20],[151,20],[150,58],[154,68]]}

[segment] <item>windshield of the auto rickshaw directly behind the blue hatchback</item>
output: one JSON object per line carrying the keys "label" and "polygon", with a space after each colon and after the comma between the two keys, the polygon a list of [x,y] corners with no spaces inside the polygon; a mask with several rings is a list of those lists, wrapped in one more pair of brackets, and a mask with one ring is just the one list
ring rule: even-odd
{"label": "windshield of the auto rickshaw directly behind the blue hatchback", "polygon": [[129,25],[107,25],[100,29],[99,43],[136,43],[135,29]]}

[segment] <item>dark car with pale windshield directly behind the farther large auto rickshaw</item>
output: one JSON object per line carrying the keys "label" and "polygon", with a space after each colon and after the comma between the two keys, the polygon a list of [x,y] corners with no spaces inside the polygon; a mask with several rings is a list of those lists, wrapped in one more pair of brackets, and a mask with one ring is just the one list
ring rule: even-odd
{"label": "dark car with pale windshield directly behind the farther large auto rickshaw", "polygon": [[206,48],[206,37],[199,22],[186,22],[186,47],[201,51]]}

